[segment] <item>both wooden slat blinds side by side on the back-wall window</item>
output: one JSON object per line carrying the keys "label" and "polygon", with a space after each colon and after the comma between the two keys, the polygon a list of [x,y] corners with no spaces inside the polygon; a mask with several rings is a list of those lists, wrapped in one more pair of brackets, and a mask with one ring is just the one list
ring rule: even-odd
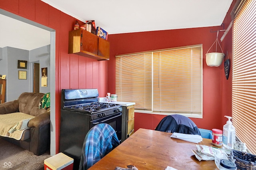
{"label": "both wooden slat blinds side by side on the back-wall window", "polygon": [[116,56],[116,93],[136,110],[202,114],[202,45]]}

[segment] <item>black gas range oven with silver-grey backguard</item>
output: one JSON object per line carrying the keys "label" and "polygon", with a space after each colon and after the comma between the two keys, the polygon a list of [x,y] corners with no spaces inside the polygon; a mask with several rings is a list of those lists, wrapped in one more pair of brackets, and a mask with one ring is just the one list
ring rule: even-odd
{"label": "black gas range oven with silver-grey backguard", "polygon": [[99,103],[98,89],[62,89],[60,152],[74,158],[74,170],[78,169],[84,138],[90,128],[107,123],[122,138],[122,106]]}

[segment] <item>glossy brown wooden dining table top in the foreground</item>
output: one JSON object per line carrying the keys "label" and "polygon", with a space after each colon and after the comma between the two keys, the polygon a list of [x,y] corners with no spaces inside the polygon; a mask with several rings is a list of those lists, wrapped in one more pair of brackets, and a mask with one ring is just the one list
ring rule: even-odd
{"label": "glossy brown wooden dining table top in the foreground", "polygon": [[[89,170],[114,170],[136,166],[138,170],[218,170],[214,160],[199,161],[192,150],[196,144],[171,138],[171,133],[140,128],[119,146],[104,156]],[[198,143],[213,146],[211,139]]]}

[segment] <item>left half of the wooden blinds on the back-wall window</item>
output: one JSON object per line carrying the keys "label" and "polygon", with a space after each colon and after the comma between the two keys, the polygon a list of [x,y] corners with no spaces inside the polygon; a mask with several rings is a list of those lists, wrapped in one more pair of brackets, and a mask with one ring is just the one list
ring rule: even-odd
{"label": "left half of the wooden blinds on the back-wall window", "polygon": [[132,101],[138,110],[152,110],[152,53],[116,58],[118,101]]}

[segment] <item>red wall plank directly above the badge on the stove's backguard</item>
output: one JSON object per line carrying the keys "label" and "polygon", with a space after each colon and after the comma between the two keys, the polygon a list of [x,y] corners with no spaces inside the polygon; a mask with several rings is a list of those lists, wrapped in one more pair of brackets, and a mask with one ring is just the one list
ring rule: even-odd
{"label": "red wall plank directly above the badge on the stove's backguard", "polygon": [[86,89],[86,57],[79,56],[78,58],[78,85],[79,89]]}

